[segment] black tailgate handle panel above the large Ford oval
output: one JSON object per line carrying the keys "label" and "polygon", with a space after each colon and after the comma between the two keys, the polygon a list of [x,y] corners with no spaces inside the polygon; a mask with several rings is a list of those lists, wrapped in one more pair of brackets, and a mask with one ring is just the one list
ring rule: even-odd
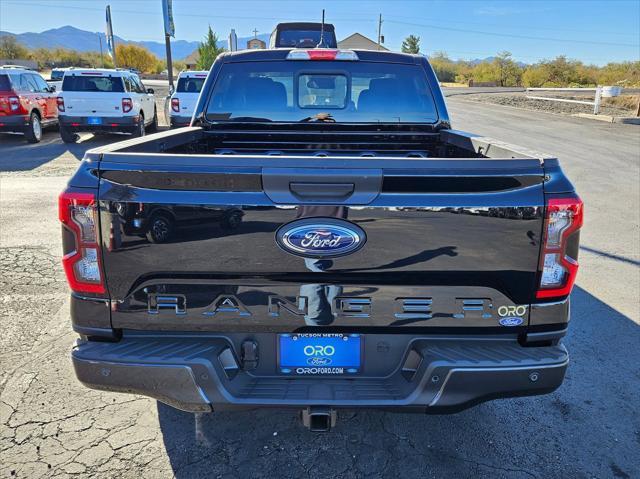
{"label": "black tailgate handle panel above the large Ford oval", "polygon": [[367,205],[382,189],[377,168],[262,168],[262,188],[276,204]]}

